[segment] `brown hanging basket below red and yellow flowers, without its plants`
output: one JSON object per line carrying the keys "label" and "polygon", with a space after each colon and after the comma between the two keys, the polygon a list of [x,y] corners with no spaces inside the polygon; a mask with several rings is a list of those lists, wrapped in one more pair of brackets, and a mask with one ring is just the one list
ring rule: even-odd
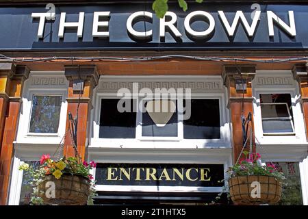
{"label": "brown hanging basket below red and yellow flowers, without its plants", "polygon": [[[55,185],[54,198],[45,195],[45,192],[51,194],[52,183],[49,182]],[[86,205],[90,194],[89,180],[78,175],[64,174],[60,179],[46,175],[44,181],[38,185],[38,194],[43,199],[44,205]]]}

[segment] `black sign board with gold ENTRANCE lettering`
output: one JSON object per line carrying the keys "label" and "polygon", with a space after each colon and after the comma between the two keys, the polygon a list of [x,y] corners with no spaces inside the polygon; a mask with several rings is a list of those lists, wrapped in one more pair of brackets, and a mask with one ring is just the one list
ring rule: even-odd
{"label": "black sign board with gold ENTRANCE lettering", "polygon": [[223,164],[98,164],[97,185],[220,187]]}

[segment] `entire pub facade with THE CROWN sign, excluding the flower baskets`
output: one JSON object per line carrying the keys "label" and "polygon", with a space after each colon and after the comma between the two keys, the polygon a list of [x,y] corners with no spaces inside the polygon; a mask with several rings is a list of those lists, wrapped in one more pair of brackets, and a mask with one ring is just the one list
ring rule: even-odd
{"label": "entire pub facade with THE CROWN sign, excluding the flower baskets", "polygon": [[152,3],[0,2],[0,204],[29,204],[21,164],[74,155],[78,114],[97,205],[210,203],[248,133],[308,205],[307,3]]}

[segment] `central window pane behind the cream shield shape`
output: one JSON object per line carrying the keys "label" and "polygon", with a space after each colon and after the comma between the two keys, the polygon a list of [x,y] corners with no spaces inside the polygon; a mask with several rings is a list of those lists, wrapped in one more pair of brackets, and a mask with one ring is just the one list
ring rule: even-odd
{"label": "central window pane behind the cream shield shape", "polygon": [[[177,101],[175,102],[177,105]],[[146,104],[145,104],[146,105]],[[168,108],[169,109],[169,108]],[[148,112],[142,113],[142,136],[177,137],[177,108],[164,127],[157,127]]]}

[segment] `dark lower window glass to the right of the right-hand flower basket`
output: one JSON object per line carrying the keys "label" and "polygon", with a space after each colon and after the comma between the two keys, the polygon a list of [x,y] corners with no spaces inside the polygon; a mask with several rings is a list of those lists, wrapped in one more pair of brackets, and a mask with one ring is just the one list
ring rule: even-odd
{"label": "dark lower window glass to the right of the right-hand flower basket", "polygon": [[298,162],[276,162],[274,164],[286,178],[281,201],[276,205],[303,205]]}

